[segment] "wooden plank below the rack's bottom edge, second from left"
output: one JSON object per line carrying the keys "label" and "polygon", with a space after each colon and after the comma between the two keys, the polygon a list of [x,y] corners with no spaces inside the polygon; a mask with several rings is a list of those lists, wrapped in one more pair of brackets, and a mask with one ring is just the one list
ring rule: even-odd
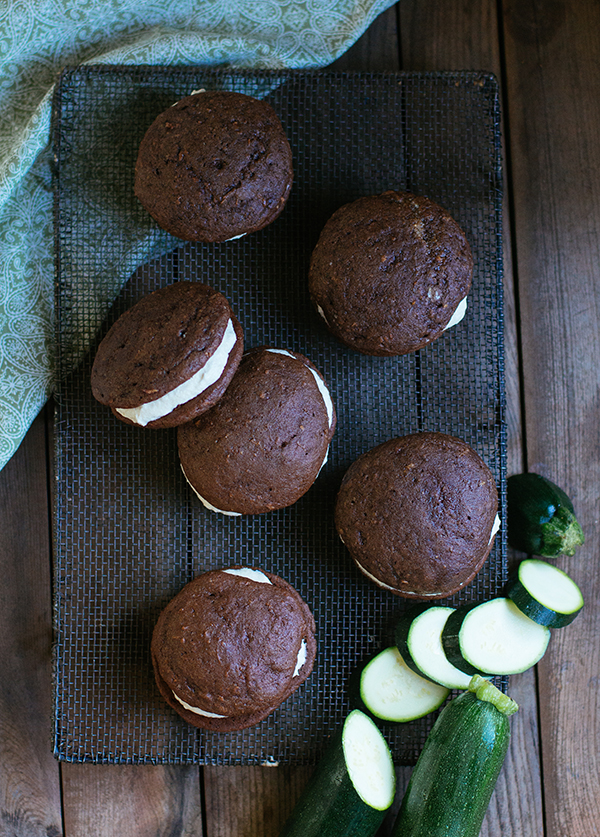
{"label": "wooden plank below the rack's bottom edge, second from left", "polygon": [[202,837],[197,767],[64,764],[67,837]]}

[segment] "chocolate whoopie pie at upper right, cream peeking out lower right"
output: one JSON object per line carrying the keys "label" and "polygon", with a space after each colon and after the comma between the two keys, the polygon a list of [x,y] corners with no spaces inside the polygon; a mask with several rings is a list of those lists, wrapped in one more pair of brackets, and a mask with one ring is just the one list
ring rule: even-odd
{"label": "chocolate whoopie pie at upper right, cream peeking out lower right", "polygon": [[331,216],[312,253],[309,291],[350,348],[403,355],[462,318],[472,272],[469,243],[445,209],[389,191]]}

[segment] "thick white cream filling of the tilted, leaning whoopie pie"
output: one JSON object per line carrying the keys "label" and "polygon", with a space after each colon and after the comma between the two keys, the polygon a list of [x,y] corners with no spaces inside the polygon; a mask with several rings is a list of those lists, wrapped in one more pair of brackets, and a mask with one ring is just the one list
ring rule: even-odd
{"label": "thick white cream filling of the tilted, leaning whoopie pie", "polygon": [[139,407],[117,407],[117,413],[120,413],[124,418],[130,419],[130,421],[142,427],[145,427],[151,421],[156,421],[159,418],[163,418],[163,416],[167,416],[181,404],[186,404],[192,398],[196,398],[197,395],[200,395],[200,393],[204,392],[204,390],[219,380],[236,343],[237,335],[235,328],[231,320],[229,320],[218,348],[209,357],[202,369],[199,369],[187,381],[179,384],[171,392],[167,392],[160,398],[156,398],[154,401],[148,401]]}

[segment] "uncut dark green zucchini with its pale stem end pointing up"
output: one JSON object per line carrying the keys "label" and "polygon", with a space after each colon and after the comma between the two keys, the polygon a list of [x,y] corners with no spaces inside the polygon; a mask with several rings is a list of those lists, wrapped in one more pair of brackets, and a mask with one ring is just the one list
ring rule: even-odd
{"label": "uncut dark green zucchini with its pale stem end pointing up", "polygon": [[440,712],[412,772],[392,837],[477,837],[518,709],[480,677]]}

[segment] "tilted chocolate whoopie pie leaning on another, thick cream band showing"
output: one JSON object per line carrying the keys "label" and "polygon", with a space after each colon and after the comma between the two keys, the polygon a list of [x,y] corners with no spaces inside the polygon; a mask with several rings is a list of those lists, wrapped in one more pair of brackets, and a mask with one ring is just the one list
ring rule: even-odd
{"label": "tilted chocolate whoopie pie leaning on another, thick cream band showing", "polygon": [[92,366],[94,397],[127,424],[176,427],[225,392],[243,354],[229,302],[199,282],[154,291],[122,314]]}

